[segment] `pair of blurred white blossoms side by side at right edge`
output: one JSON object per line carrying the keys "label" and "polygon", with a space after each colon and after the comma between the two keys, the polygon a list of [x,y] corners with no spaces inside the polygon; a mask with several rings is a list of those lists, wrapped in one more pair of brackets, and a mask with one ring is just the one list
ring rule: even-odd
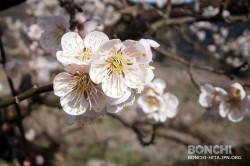
{"label": "pair of blurred white blossoms side by side at right edge", "polygon": [[210,111],[219,110],[222,118],[228,118],[232,122],[239,122],[249,111],[250,91],[247,86],[233,83],[229,91],[220,87],[205,84],[201,87],[199,103]]}

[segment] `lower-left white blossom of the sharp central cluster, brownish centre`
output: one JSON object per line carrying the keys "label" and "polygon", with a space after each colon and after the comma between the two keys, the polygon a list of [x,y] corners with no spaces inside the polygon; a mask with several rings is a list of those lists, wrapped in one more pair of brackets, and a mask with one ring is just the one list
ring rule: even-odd
{"label": "lower-left white blossom of the sharp central cluster, brownish centre", "polygon": [[89,66],[70,64],[66,72],[53,82],[54,93],[60,97],[63,110],[69,115],[81,115],[87,110],[101,112],[106,103],[101,87],[89,77]]}

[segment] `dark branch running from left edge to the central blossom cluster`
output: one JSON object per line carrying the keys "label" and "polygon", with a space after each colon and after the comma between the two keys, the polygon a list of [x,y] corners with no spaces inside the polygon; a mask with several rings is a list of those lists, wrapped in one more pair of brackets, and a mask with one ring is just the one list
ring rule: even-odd
{"label": "dark branch running from left edge to the central blossom cluster", "polygon": [[27,98],[33,97],[35,95],[53,91],[53,84],[45,85],[42,87],[33,87],[32,89],[27,90],[15,97],[8,98],[6,100],[0,101],[0,108],[7,107],[11,104],[18,104],[20,101],[25,100]]}

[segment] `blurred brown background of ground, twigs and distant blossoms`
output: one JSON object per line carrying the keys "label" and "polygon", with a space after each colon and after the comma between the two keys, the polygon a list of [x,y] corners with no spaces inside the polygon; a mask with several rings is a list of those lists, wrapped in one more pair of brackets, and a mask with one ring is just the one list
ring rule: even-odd
{"label": "blurred brown background of ground, twigs and distant blossoms", "polygon": [[[197,88],[205,83],[224,89],[234,82],[249,83],[248,0],[1,0],[0,36],[6,56],[1,62],[14,64],[11,70],[1,65],[1,100],[11,96],[9,78],[19,94],[51,84],[63,70],[55,54],[41,47],[37,24],[43,16],[72,20],[63,2],[75,4],[78,31],[85,21],[95,20],[96,29],[110,38],[157,41],[161,46],[153,52],[155,78],[165,80],[166,91],[178,97],[178,113],[157,127],[152,144],[143,146],[131,125],[123,123],[140,122],[137,101],[117,115],[68,126],[59,98],[44,93],[20,102],[19,115],[15,105],[1,108],[0,166],[250,164],[250,114],[239,123],[222,119],[199,105]],[[138,128],[143,139],[150,139],[152,126],[138,123]],[[242,160],[187,160],[189,144],[233,145]]]}

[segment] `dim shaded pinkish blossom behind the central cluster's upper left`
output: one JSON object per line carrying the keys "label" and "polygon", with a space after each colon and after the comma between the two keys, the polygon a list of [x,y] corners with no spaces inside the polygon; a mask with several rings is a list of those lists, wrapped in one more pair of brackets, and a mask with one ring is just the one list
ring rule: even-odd
{"label": "dim shaded pinkish blossom behind the central cluster's upper left", "polygon": [[70,31],[69,21],[62,16],[46,16],[38,19],[38,25],[44,30],[40,38],[43,49],[52,54],[61,50],[61,38]]}

